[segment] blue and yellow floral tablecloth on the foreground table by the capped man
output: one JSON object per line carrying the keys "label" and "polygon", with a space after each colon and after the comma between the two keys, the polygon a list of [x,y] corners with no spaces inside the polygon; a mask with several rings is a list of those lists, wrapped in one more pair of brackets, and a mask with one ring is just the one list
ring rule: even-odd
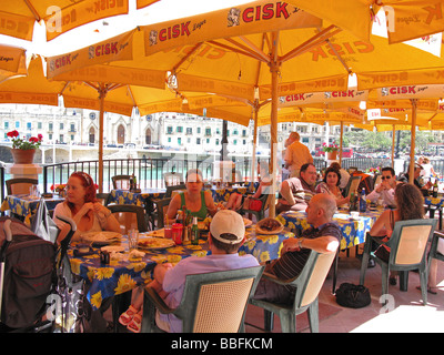
{"label": "blue and yellow floral tablecloth on the foreground table by the capped man", "polygon": [[[246,229],[246,242],[241,246],[239,253],[252,254],[258,261],[265,262],[278,258],[281,255],[282,242],[294,236],[291,232],[282,232],[276,235],[256,235],[254,227]],[[107,297],[131,291],[138,285],[151,282],[151,271],[160,263],[178,263],[184,257],[196,255],[204,256],[209,252],[208,243],[201,240],[199,245],[189,242],[176,245],[162,252],[147,252],[143,257],[128,260],[128,240],[122,237],[121,245],[125,253],[122,260],[112,260],[110,264],[100,263],[99,248],[93,248],[91,255],[74,256],[73,251],[77,243],[69,250],[71,270],[74,274],[85,280],[90,286],[88,298],[93,307],[98,310]]]}

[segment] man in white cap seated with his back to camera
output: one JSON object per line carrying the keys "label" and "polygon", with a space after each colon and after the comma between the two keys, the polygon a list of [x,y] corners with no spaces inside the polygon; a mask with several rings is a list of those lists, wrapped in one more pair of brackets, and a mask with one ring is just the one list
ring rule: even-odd
{"label": "man in white cap seated with his back to camera", "polygon": [[[175,308],[182,300],[186,275],[258,266],[258,260],[253,255],[238,254],[244,236],[245,226],[242,216],[230,210],[219,211],[210,224],[208,242],[211,255],[190,256],[181,260],[176,266],[170,263],[157,265],[154,281],[150,286],[164,297],[168,306]],[[174,315],[158,313],[155,322],[164,331],[174,333],[182,331],[182,322]]]}

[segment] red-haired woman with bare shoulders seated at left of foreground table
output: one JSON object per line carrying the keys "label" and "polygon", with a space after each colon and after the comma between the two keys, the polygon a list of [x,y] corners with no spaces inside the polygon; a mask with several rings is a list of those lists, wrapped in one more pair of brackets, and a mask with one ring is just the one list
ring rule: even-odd
{"label": "red-haired woman with bare shoulders seated at left of foreground table", "polygon": [[68,216],[77,224],[72,241],[80,240],[82,232],[112,231],[120,233],[120,225],[111,211],[98,202],[95,185],[91,176],[84,172],[73,172],[67,183],[67,199],[54,209],[53,220],[61,230],[59,241],[63,240],[69,226],[57,219]]}

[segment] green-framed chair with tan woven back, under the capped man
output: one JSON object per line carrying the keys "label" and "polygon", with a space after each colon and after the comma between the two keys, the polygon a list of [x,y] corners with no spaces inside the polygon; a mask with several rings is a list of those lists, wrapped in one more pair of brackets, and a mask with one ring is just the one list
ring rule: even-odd
{"label": "green-framed chair with tan woven back, under the capped man", "polygon": [[145,287],[142,333],[162,332],[155,310],[182,321],[183,333],[243,332],[249,298],[254,294],[264,266],[188,275],[182,302],[170,308],[152,287]]}

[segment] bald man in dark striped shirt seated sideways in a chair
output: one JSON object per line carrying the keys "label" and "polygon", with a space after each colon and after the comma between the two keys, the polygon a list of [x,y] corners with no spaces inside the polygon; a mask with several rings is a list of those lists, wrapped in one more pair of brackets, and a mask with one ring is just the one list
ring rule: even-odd
{"label": "bald man in dark striped shirt seated sideways in a chair", "polygon": [[[306,222],[312,227],[305,230],[299,239],[285,240],[281,257],[266,265],[265,272],[280,280],[290,280],[301,273],[309,258],[310,250],[319,253],[335,253],[342,236],[337,223],[332,222],[335,211],[336,202],[333,196],[325,193],[314,195],[306,207]],[[294,288],[262,277],[254,298],[291,304],[294,301]]]}

